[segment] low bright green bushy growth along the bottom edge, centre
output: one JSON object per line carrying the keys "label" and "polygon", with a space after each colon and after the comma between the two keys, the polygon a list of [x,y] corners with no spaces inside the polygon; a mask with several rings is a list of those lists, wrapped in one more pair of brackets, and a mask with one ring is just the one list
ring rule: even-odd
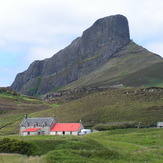
{"label": "low bright green bushy growth along the bottom edge, centre", "polygon": [[[123,156],[114,150],[54,150],[48,152],[44,157],[45,163],[85,163],[100,162],[103,160],[121,159]],[[95,161],[96,160],[96,161]],[[99,161],[98,161],[99,160]]]}

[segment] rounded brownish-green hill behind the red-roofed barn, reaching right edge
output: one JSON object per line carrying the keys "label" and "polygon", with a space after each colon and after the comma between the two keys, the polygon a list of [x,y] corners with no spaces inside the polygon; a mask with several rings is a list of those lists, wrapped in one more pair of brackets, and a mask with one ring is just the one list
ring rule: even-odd
{"label": "rounded brownish-green hill behind the red-roofed barn, reaching right edge", "polygon": [[110,89],[71,101],[55,110],[60,121],[83,121],[85,125],[108,122],[163,121],[163,89]]}

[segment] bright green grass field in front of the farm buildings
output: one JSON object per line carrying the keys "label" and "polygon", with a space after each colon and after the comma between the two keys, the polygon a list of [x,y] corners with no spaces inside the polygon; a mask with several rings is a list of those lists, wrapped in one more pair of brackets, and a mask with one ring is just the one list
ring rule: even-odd
{"label": "bright green grass field in front of the farm buildings", "polygon": [[38,150],[35,156],[29,158],[18,154],[0,154],[0,163],[161,163],[163,161],[163,129],[119,129],[81,137],[8,136],[8,138],[35,143]]}

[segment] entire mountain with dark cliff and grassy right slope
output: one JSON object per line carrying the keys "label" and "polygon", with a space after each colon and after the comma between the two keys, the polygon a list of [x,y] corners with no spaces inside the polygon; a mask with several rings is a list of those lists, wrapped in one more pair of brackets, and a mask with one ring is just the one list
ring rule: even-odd
{"label": "entire mountain with dark cliff and grassy right slope", "polygon": [[[143,82],[138,82],[139,73],[135,78],[131,75],[157,62],[163,62],[162,58],[130,40],[127,18],[113,15],[97,20],[51,58],[33,62],[16,76],[11,88],[33,96],[60,88],[153,85],[153,80],[157,81],[155,86],[161,86],[160,77],[152,73],[150,77],[143,76]],[[128,78],[131,80],[127,82]]]}

